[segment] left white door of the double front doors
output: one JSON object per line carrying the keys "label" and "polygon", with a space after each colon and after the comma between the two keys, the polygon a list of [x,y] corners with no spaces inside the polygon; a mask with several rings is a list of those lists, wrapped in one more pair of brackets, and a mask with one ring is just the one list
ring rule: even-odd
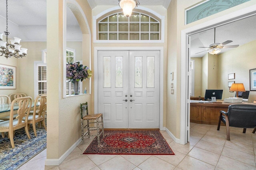
{"label": "left white door of the double front doors", "polygon": [[98,52],[98,111],[106,128],[128,127],[128,57],[128,51]]}

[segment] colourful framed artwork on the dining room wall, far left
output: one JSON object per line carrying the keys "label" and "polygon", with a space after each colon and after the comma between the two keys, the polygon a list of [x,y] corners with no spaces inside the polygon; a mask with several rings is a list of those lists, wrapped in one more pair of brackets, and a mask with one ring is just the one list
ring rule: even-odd
{"label": "colourful framed artwork on the dining room wall, far left", "polygon": [[16,67],[0,64],[0,89],[16,89]]}

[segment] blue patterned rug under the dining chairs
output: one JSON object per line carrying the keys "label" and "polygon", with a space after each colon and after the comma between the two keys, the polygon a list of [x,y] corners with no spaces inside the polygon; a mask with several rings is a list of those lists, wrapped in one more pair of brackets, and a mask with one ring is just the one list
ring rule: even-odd
{"label": "blue patterned rug under the dining chairs", "polygon": [[46,130],[43,126],[38,127],[36,123],[37,137],[35,137],[30,124],[29,134],[31,139],[28,139],[24,128],[16,130],[14,148],[7,133],[5,138],[0,135],[0,170],[16,170],[46,148]]}

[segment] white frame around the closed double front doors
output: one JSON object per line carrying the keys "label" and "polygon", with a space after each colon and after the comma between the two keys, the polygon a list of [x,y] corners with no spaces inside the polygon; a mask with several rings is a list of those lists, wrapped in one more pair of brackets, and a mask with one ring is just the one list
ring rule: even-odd
{"label": "white frame around the closed double front doors", "polygon": [[164,47],[94,47],[94,113],[98,113],[98,51],[160,51],[160,101],[159,129],[163,127],[164,117]]}

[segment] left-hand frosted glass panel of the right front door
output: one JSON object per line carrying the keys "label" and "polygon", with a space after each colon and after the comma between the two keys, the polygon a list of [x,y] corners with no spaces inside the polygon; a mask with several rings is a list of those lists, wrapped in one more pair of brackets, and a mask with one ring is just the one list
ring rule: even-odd
{"label": "left-hand frosted glass panel of the right front door", "polygon": [[142,57],[135,57],[134,88],[142,88]]}

